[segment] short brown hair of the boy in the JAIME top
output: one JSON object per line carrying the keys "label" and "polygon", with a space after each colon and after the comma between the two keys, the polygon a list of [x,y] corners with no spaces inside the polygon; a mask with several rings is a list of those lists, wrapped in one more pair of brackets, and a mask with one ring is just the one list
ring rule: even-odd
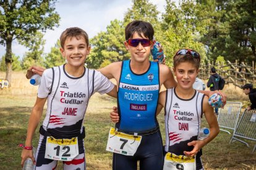
{"label": "short brown hair of the boy in the JAIME top", "polygon": [[61,37],[59,38],[61,41],[61,47],[64,49],[64,44],[67,39],[75,37],[76,39],[84,38],[86,45],[89,46],[89,38],[88,34],[78,27],[67,28],[65,31],[61,33]]}

